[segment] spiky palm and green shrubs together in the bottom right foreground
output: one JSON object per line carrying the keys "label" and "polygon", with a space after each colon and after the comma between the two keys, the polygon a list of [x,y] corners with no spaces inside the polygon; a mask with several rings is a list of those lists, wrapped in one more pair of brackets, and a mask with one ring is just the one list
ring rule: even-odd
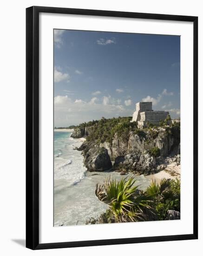
{"label": "spiky palm and green shrubs together in the bottom right foreground", "polygon": [[[99,217],[99,223],[165,220],[167,211],[180,211],[180,181],[162,179],[152,181],[145,190],[139,190],[133,177],[116,181],[106,180],[96,185],[95,194],[109,209]],[[89,223],[96,223],[92,219]]]}

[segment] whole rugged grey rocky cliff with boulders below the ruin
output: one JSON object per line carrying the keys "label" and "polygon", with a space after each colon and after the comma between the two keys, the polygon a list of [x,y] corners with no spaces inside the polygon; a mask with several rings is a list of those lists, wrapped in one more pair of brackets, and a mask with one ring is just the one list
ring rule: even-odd
{"label": "whole rugged grey rocky cliff with boulders below the ruin", "polygon": [[113,170],[123,173],[148,175],[164,169],[167,157],[180,154],[178,126],[134,129],[127,132],[125,128],[123,133],[114,134],[109,130],[109,134],[113,134],[111,140],[109,137],[105,140],[102,134],[101,143],[99,137],[97,140],[93,137],[98,134],[97,129],[97,126],[75,128],[71,135],[73,138],[87,138],[78,150],[82,151],[85,166],[89,171],[104,171],[112,167]]}

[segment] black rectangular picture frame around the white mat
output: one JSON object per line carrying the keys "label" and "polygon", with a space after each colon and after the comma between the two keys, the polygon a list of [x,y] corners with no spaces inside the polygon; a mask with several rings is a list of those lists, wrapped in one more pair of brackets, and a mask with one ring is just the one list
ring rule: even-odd
{"label": "black rectangular picture frame around the white mat", "polygon": [[[175,20],[193,23],[193,233],[172,236],[152,236],[105,239],[65,243],[39,243],[39,13],[66,13],[105,17]],[[198,238],[198,17],[131,13],[58,7],[26,8],[26,247],[54,249],[127,243],[149,243]]]}

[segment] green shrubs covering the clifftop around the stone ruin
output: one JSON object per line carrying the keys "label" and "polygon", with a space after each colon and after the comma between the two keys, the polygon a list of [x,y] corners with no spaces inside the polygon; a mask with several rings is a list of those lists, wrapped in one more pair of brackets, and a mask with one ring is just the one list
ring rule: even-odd
{"label": "green shrubs covering the clifftop around the stone ruin", "polygon": [[[160,121],[160,125],[164,126],[168,134],[179,138],[178,133],[180,133],[180,123],[172,124],[170,120],[170,115],[168,115],[164,121]],[[170,124],[170,126],[168,124]],[[153,126],[151,123],[148,123],[147,128],[138,129],[137,123],[131,122],[131,116],[118,118],[114,117],[109,119],[102,117],[100,120],[92,120],[81,123],[75,128],[82,130],[85,130],[85,128],[90,128],[88,129],[88,135],[86,135],[86,141],[94,141],[96,144],[103,142],[110,142],[112,144],[115,134],[123,141],[128,141],[130,132],[137,134],[141,138],[145,138],[145,143],[149,144],[150,141],[156,139],[159,134],[159,130],[156,129],[157,127]],[[152,150],[152,153],[159,155],[156,148]]]}

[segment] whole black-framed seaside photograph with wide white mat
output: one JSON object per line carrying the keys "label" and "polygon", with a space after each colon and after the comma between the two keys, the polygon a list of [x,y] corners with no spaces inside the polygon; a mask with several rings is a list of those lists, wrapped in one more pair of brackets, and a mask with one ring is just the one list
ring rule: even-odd
{"label": "whole black-framed seaside photograph with wide white mat", "polygon": [[26,247],[197,239],[197,17],[26,9]]}

